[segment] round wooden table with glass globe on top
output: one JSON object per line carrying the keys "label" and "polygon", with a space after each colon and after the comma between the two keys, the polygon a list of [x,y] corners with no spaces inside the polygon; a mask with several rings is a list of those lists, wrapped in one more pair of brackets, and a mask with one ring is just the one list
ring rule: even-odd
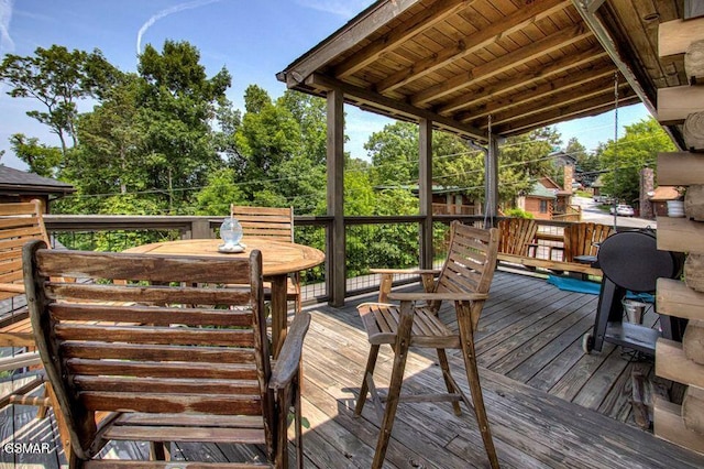
{"label": "round wooden table with glass globe on top", "polygon": [[186,239],[138,246],[124,252],[168,255],[212,255],[219,258],[249,258],[253,249],[262,251],[264,279],[272,283],[272,349],[279,350],[286,338],[287,303],[286,280],[289,273],[299,272],[321,264],[326,260],[322,251],[293,242],[272,241],[265,238],[245,237],[244,252],[223,253],[218,251],[220,239]]}

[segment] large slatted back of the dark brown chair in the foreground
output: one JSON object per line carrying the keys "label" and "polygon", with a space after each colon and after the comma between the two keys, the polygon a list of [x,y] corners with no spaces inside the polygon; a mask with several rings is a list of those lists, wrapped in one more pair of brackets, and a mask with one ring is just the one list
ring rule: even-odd
{"label": "large slatted back of the dark brown chair in the foreground", "polygon": [[[74,446],[96,437],[103,411],[263,416],[273,428],[258,251],[217,259],[42,248],[24,249],[30,315]],[[77,282],[55,280],[65,275]],[[271,432],[265,439],[271,448]]]}

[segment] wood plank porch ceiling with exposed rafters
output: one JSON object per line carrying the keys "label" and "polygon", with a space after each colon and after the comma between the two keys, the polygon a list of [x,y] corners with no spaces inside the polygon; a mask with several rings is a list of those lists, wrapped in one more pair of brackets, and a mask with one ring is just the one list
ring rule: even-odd
{"label": "wood plank porch ceiling with exposed rafters", "polygon": [[657,54],[676,18],[676,0],[381,0],[277,77],[485,142],[490,117],[508,137],[614,109],[616,76],[619,106],[654,109],[657,88],[686,84]]}

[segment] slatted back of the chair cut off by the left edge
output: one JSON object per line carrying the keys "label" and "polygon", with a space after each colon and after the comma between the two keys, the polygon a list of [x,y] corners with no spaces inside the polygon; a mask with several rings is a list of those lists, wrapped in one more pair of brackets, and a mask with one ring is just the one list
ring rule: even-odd
{"label": "slatted back of the chair cut off by the left edge", "polygon": [[[22,246],[34,239],[48,246],[41,203],[0,204],[0,284],[16,284],[21,288]],[[16,295],[13,291],[2,291],[0,285],[0,299]]]}

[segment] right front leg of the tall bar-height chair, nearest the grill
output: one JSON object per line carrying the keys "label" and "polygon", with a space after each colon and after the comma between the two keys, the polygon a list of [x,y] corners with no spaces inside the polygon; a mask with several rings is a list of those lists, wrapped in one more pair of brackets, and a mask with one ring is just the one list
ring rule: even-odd
{"label": "right front leg of the tall bar-height chair, nearest the grill", "polygon": [[474,413],[476,414],[476,423],[482,433],[484,449],[488,456],[492,468],[498,468],[498,457],[496,448],[492,439],[492,432],[488,427],[488,417],[484,407],[484,396],[482,395],[482,386],[480,385],[480,372],[476,368],[476,353],[474,351],[474,328],[469,310],[461,314],[458,308],[458,325],[460,326],[460,339],[462,341],[462,357],[464,358],[464,367],[466,368],[466,379],[472,391],[472,401],[474,403]]}

